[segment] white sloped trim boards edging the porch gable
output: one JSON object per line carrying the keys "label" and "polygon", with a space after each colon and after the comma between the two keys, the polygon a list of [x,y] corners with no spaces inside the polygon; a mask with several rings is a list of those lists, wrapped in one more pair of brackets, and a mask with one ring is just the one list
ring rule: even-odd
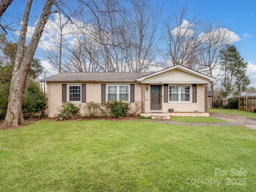
{"label": "white sloped trim boards edging the porch gable", "polygon": [[149,78],[149,77],[152,77],[152,76],[155,76],[155,75],[158,75],[158,74],[161,74],[161,73],[164,73],[164,72],[168,72],[170,70],[174,70],[174,69],[178,69],[178,70],[181,70],[181,71],[184,71],[184,72],[187,72],[187,73],[190,73],[190,74],[193,74],[193,75],[196,75],[196,76],[199,76],[199,77],[202,77],[202,78],[205,78],[205,79],[208,79],[210,82],[213,82],[213,81],[216,81],[215,78],[212,78],[210,76],[207,76],[205,74],[202,74],[200,72],[197,72],[195,70],[192,70],[190,68],[187,68],[187,67],[184,67],[182,65],[174,65],[172,67],[169,67],[169,68],[166,68],[166,69],[163,69],[163,70],[160,70],[158,72],[155,72],[155,73],[151,73],[151,74],[148,74],[148,75],[145,75],[143,77],[140,77],[137,79],[137,81],[143,81],[145,78]]}

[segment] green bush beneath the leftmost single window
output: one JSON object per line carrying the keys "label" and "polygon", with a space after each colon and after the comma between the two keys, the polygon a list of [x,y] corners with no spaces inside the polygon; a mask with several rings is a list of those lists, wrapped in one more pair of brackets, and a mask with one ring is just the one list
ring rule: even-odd
{"label": "green bush beneath the leftmost single window", "polygon": [[75,104],[73,104],[71,102],[64,102],[62,104],[62,106],[60,106],[60,109],[59,109],[60,120],[78,116],[80,114],[80,108],[81,108],[81,105],[76,106]]}

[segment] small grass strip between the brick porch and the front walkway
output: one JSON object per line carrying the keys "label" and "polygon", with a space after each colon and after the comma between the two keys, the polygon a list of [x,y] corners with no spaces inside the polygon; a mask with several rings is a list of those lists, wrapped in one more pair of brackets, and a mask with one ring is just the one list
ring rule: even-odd
{"label": "small grass strip between the brick porch and the front walkway", "polygon": [[172,117],[172,121],[189,123],[227,123],[227,121],[214,117]]}

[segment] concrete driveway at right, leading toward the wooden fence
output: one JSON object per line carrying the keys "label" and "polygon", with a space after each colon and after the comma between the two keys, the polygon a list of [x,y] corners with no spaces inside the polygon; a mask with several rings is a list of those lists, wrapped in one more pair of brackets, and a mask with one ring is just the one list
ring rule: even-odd
{"label": "concrete driveway at right, leading toward the wooden fence", "polygon": [[226,120],[232,124],[236,124],[238,126],[247,127],[252,130],[256,130],[256,119],[243,117],[232,114],[223,114],[223,113],[212,113],[210,117],[215,117],[219,119]]}

